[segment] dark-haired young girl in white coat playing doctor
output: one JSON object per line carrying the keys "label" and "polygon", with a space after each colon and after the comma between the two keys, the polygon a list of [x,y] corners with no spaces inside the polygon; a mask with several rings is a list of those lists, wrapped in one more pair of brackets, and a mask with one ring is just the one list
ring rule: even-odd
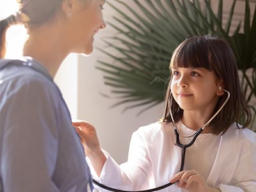
{"label": "dark-haired young girl in white coat playing doctor", "polygon": [[[116,164],[101,150],[93,125],[74,122],[94,177],[125,190],[154,188],[169,180],[178,182],[162,191],[256,191],[256,134],[244,128],[251,114],[230,46],[214,36],[189,38],[173,52],[170,70],[163,119],[132,134],[126,163]],[[237,124],[241,115],[246,116],[244,126]],[[180,172],[178,143],[190,143],[200,127]]]}

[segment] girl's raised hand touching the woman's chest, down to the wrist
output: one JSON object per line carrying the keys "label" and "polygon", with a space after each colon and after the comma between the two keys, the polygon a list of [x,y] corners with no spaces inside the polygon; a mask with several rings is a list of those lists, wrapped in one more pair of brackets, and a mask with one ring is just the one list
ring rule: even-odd
{"label": "girl's raised hand touching the woman's chest, down to the wrist", "polygon": [[81,138],[86,156],[90,156],[93,152],[101,151],[97,132],[92,124],[81,120],[72,120],[72,125],[76,128]]}

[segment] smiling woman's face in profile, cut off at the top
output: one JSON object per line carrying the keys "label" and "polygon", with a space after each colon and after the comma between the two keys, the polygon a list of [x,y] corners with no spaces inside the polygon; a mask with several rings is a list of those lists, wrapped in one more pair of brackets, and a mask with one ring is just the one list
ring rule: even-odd
{"label": "smiling woman's face in profile, cut off at the top", "polygon": [[106,28],[102,17],[102,6],[105,0],[74,0],[67,19],[70,26],[69,35],[71,52],[91,54],[93,51],[93,36],[99,29]]}

